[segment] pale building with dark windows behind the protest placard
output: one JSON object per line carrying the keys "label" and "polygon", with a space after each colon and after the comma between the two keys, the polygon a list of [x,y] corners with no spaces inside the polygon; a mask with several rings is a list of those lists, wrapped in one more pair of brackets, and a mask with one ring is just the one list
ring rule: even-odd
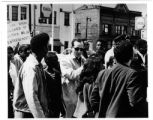
{"label": "pale building with dark windows behind the protest placard", "polygon": [[[46,32],[52,50],[60,53],[71,46],[74,37],[73,5],[11,4],[7,5],[7,21],[28,20],[31,36]],[[53,31],[53,32],[52,32]]]}

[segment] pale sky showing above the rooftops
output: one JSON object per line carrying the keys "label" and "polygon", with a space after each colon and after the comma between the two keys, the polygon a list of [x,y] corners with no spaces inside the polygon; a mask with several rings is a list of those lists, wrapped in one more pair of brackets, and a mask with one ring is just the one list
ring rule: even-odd
{"label": "pale sky showing above the rooftops", "polygon": [[[146,4],[126,4],[126,5],[129,8],[129,10],[142,12],[142,16],[145,16],[147,14],[147,5]],[[81,6],[81,4],[75,5],[75,8],[78,8],[80,6]],[[116,4],[102,4],[102,6],[114,8],[116,6]]]}

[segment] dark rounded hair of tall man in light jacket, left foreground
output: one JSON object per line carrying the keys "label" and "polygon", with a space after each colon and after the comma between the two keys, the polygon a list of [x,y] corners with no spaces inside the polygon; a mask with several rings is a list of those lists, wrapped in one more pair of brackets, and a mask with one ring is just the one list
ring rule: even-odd
{"label": "dark rounded hair of tall man in light jacket, left foreground", "polygon": [[30,46],[34,53],[39,53],[43,47],[49,42],[49,35],[47,33],[40,33],[31,39]]}

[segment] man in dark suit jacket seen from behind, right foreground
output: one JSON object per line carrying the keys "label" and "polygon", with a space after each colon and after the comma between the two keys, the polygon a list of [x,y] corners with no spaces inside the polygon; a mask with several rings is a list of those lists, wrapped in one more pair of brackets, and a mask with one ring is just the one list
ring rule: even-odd
{"label": "man in dark suit jacket seen from behind, right foreground", "polygon": [[[116,65],[101,71],[92,91],[92,107],[98,117],[147,117],[146,83],[131,69],[133,46],[123,41],[114,48]],[[100,96],[100,99],[98,98]]]}

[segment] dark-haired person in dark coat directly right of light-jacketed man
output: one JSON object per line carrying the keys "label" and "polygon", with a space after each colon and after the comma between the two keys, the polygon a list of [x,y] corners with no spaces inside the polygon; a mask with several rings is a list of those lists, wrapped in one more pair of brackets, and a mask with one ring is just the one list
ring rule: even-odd
{"label": "dark-haired person in dark coat directly right of light-jacketed man", "polygon": [[62,94],[61,70],[58,57],[54,52],[48,52],[44,57],[47,68],[45,69],[46,91],[49,108],[49,118],[65,117],[66,109]]}

